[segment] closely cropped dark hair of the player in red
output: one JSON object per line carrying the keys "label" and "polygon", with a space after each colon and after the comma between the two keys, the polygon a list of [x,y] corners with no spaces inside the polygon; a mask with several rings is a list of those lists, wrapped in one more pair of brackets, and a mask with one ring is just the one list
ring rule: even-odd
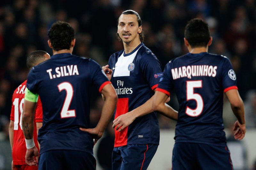
{"label": "closely cropped dark hair of the player in red", "polygon": [[38,50],[31,52],[27,57],[27,67],[31,69],[36,64],[41,63],[45,57],[46,51]]}

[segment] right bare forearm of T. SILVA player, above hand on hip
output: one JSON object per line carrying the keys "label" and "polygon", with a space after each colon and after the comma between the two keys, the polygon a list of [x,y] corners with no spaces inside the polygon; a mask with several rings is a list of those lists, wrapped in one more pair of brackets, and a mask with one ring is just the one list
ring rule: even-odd
{"label": "right bare forearm of T. SILVA player, above hand on hip", "polygon": [[100,120],[96,126],[97,129],[100,130],[100,132],[104,132],[106,129],[110,119],[113,116],[114,110],[116,108],[117,103],[117,96],[115,97],[106,97],[104,105],[102,107],[102,113],[100,116]]}

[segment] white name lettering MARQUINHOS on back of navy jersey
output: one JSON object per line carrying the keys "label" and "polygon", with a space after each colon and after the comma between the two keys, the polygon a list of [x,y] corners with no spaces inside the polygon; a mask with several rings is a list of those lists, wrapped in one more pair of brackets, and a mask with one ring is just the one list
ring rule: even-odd
{"label": "white name lettering MARQUINHOS on back of navy jersey", "polygon": [[172,69],[172,78],[173,80],[177,78],[188,77],[191,76],[209,76],[215,77],[217,72],[217,66],[212,65],[192,65],[192,66],[183,66],[179,68]]}

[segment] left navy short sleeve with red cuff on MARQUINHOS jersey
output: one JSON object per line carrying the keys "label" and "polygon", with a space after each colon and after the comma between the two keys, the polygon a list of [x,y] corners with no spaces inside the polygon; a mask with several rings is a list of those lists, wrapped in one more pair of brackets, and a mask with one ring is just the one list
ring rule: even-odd
{"label": "left navy short sleeve with red cuff on MARQUINHOS jersey", "polygon": [[172,78],[172,62],[169,62],[164,67],[164,76],[160,78],[158,87],[156,91],[160,91],[170,96],[170,92],[173,88],[173,78]]}

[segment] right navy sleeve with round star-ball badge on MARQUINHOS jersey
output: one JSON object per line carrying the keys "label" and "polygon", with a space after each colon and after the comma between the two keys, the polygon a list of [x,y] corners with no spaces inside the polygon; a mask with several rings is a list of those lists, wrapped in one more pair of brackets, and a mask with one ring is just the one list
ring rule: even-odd
{"label": "right navy sleeve with round star-ball badge on MARQUINHOS jersey", "polygon": [[222,87],[224,92],[227,92],[231,89],[238,89],[236,86],[236,73],[233,70],[232,64],[228,58],[223,58],[223,65],[222,65]]}

